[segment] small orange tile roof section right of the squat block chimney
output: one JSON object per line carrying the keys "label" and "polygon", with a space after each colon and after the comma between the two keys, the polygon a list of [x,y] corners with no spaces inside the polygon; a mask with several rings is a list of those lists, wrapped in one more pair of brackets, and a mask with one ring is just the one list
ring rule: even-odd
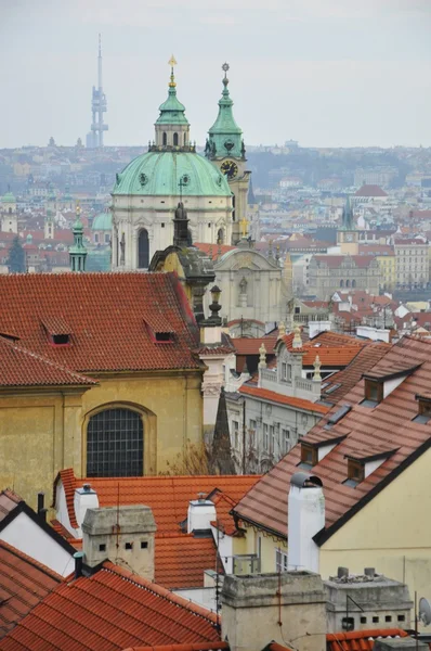
{"label": "small orange tile roof section right of the squat block chimney", "polygon": [[216,558],[212,536],[199,538],[192,534],[157,534],[156,582],[170,590],[201,588],[204,572],[216,570]]}

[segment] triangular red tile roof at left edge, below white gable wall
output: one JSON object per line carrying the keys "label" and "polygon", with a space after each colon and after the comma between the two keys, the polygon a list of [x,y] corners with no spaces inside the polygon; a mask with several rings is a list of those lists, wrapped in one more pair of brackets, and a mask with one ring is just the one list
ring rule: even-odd
{"label": "triangular red tile roof at left edge, below white gable wall", "polygon": [[61,582],[58,574],[0,540],[0,638]]}

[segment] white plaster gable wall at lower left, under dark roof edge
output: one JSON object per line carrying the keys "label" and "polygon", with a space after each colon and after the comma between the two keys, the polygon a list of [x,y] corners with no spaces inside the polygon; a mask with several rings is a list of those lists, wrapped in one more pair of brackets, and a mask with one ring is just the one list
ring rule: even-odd
{"label": "white plaster gable wall at lower left, under dark roof edge", "polygon": [[74,571],[74,557],[25,513],[19,513],[0,532],[0,538],[61,576],[67,576]]}

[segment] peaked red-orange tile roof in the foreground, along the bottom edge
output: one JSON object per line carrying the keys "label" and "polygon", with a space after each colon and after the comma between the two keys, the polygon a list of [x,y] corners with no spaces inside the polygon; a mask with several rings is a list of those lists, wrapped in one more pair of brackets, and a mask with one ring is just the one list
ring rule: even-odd
{"label": "peaked red-orange tile roof in the foreground, along the bottom edge", "polygon": [[90,577],[60,584],[0,643],[2,651],[115,651],[214,642],[217,616],[105,562]]}

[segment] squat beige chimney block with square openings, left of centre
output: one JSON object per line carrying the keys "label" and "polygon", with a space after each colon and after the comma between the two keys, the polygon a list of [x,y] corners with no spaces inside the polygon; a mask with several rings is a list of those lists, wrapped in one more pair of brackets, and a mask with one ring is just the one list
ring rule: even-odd
{"label": "squat beige chimney block with square openings, left of centre", "polygon": [[153,511],[143,505],[87,509],[82,523],[84,563],[94,567],[108,559],[154,580],[156,528]]}

